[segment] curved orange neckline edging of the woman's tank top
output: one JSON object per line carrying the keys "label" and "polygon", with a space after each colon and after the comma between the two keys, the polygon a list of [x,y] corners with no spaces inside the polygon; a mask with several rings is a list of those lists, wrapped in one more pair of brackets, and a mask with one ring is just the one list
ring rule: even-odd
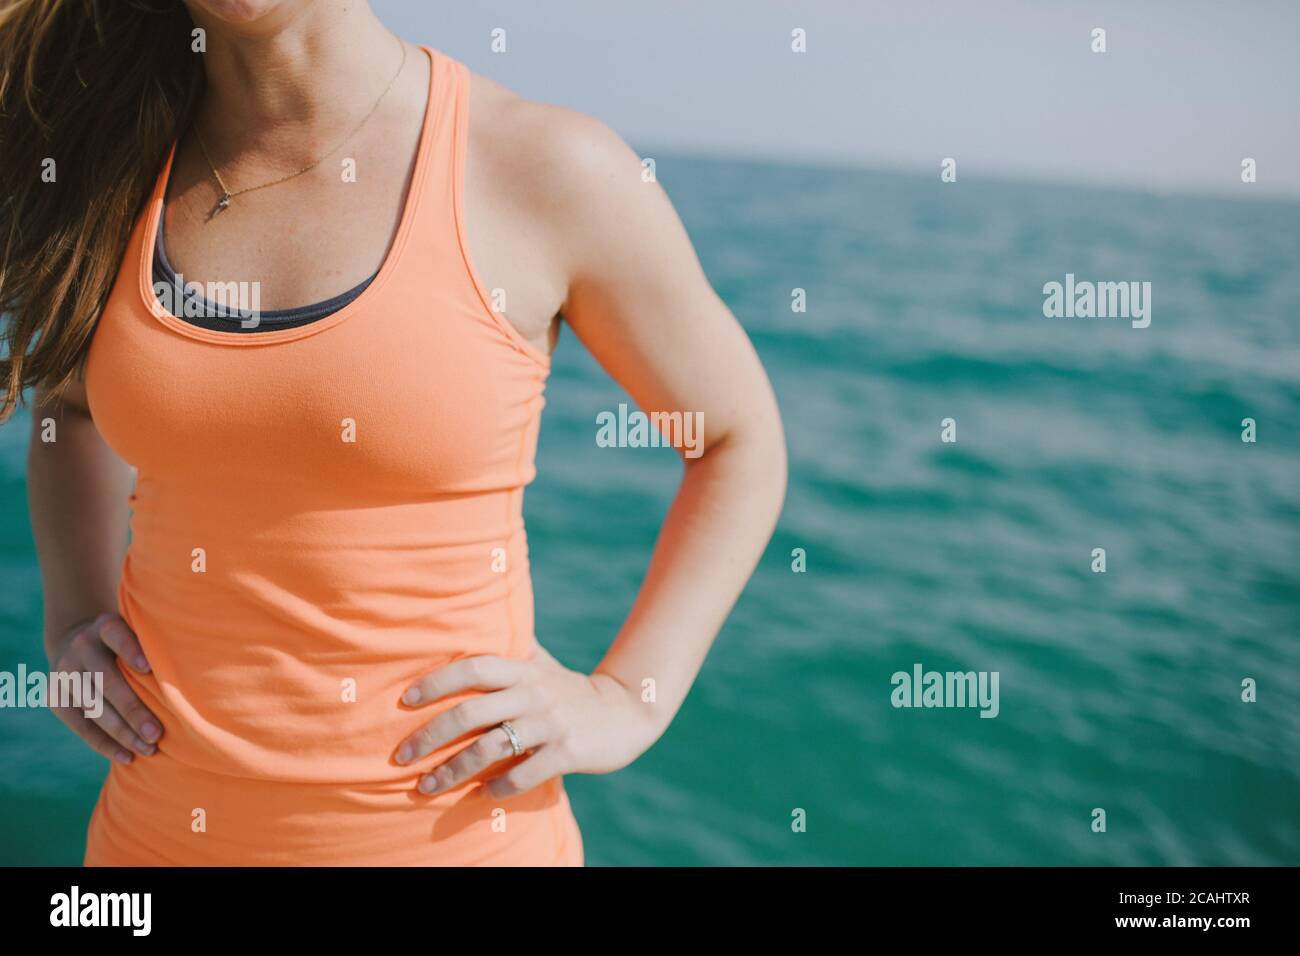
{"label": "curved orange neckline edging of the woman's tank top", "polygon": [[162,200],[166,196],[166,187],[172,179],[172,164],[176,160],[176,150],[179,144],[179,138],[172,143],[172,148],[168,152],[166,163],[162,165],[162,170],[159,173],[159,181],[155,183],[153,195],[150,199],[150,212],[144,222],[144,235],[140,239],[140,267],[139,267],[139,287],[138,293],[140,295],[144,307],[150,313],[162,323],[165,326],[173,332],[178,332],[182,336],[188,336],[190,338],[198,338],[204,342],[217,342],[221,345],[234,345],[234,346],[257,346],[257,345],[276,345],[277,342],[290,342],[299,338],[306,338],[307,336],[315,336],[326,329],[332,329],[339,323],[346,321],[355,312],[358,312],[367,302],[368,297],[378,293],[380,287],[387,281],[396,268],[398,259],[400,258],[402,248],[406,246],[408,234],[411,233],[411,225],[415,220],[416,206],[420,200],[421,185],[424,182],[424,172],[428,166],[429,159],[429,140],[433,138],[433,112],[434,112],[434,94],[436,94],[436,73],[438,66],[437,52],[421,44],[416,44],[425,56],[429,59],[429,88],[428,99],[424,107],[424,121],[420,126],[420,139],[416,143],[415,152],[415,169],[411,173],[411,182],[407,186],[407,194],[402,204],[402,216],[398,220],[396,232],[393,234],[393,241],[389,243],[389,250],[384,256],[384,263],[380,265],[378,272],[370,278],[370,284],[361,290],[361,293],[352,299],[350,303],[343,306],[343,308],[325,316],[324,319],[317,319],[316,321],[307,323],[306,325],[298,325],[292,329],[278,329],[274,332],[222,332],[220,329],[205,329],[200,325],[194,325],[185,321],[178,316],[172,315],[168,310],[162,308],[162,303],[159,302],[157,297],[153,294],[153,284],[150,281],[152,278],[152,263],[153,263],[153,250],[157,245],[157,229],[159,217],[162,212]]}

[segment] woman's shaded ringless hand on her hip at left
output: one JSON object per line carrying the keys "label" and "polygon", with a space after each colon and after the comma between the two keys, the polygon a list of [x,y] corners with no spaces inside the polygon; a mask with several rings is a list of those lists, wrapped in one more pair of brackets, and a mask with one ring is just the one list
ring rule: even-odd
{"label": "woman's shaded ringless hand on her hip at left", "polygon": [[156,753],[162,722],[150,713],[117,670],[117,658],[122,658],[136,674],[150,672],[150,662],[126,622],[117,614],[100,614],[69,631],[57,646],[57,654],[52,656],[55,671],[104,675],[103,706],[98,717],[87,717],[73,706],[52,708],[58,719],[109,760],[130,763],[133,750],[143,757]]}

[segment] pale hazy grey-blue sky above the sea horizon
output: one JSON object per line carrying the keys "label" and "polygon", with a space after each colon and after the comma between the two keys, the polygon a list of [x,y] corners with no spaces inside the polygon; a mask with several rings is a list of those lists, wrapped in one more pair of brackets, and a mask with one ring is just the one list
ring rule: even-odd
{"label": "pale hazy grey-blue sky above the sea horizon", "polygon": [[[374,0],[645,153],[1300,196],[1300,0]],[[493,53],[491,31],[507,52]],[[790,31],[807,31],[807,52]],[[1093,27],[1108,52],[1091,51]],[[1253,157],[1258,182],[1240,181]]]}

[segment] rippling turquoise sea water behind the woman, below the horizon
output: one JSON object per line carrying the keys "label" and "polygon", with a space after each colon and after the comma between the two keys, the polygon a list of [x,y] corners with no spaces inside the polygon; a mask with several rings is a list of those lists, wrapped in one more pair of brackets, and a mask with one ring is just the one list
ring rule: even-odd
{"label": "rippling turquoise sea water behind the woman, below the horizon", "polygon": [[[1300,864],[1300,206],[656,159],[772,376],[790,489],[668,734],[569,778],[588,861]],[[1066,273],[1150,281],[1150,328],[1045,319]],[[567,333],[547,399],[537,627],[590,667],[679,464],[597,447],[627,399]],[[25,428],[6,670],[43,665]],[[997,671],[998,717],[893,708],[915,663]],[[79,862],[101,761],[0,719],[0,862]]]}

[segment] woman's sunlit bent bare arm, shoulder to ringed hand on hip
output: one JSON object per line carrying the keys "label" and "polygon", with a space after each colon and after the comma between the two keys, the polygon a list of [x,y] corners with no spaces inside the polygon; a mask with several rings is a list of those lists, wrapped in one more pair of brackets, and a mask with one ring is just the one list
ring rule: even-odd
{"label": "woman's sunlit bent bare arm, shoulder to ringed hand on hip", "polygon": [[[703,425],[679,447],[684,475],[650,567],[616,640],[590,675],[545,650],[529,661],[469,657],[403,697],[425,706],[486,691],[406,740],[419,760],[474,731],[469,748],[421,778],[454,787],[514,757],[508,721],[529,756],[489,773],[507,796],[568,773],[627,766],[664,732],[771,537],[785,494],[785,442],[771,385],[718,298],[672,204],[641,159],[601,124],[549,108],[533,153],[552,255],[567,276],[566,323],[649,412]],[[538,160],[541,156],[541,160]],[[594,423],[593,423],[594,436]]]}

